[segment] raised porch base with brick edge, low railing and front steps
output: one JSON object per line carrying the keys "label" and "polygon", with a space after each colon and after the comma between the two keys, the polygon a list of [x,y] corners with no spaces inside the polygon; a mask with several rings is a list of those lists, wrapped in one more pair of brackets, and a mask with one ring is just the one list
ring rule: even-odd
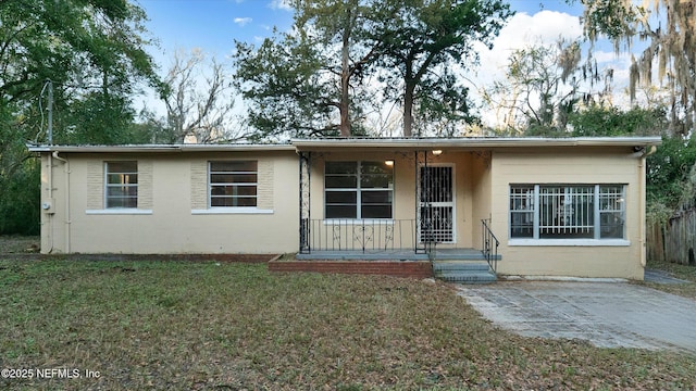
{"label": "raised porch base with brick edge, low railing and front steps", "polygon": [[[272,265],[277,272],[302,270],[345,274],[382,274],[436,277],[449,282],[485,283],[497,280],[499,242],[482,220],[481,249],[423,242],[414,220],[313,220],[307,224],[307,242],[295,263]],[[433,237],[433,236],[425,236]]]}

